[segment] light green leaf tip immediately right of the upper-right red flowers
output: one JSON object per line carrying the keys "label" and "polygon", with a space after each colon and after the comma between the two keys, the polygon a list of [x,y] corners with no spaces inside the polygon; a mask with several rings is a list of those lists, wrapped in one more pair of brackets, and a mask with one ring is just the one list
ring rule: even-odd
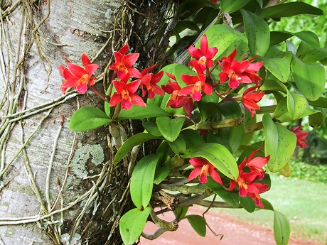
{"label": "light green leaf tip immediately right of the upper-right red flowers", "polygon": [[265,58],[259,56],[257,61],[263,61],[264,67],[272,72],[272,75],[277,77],[281,82],[287,82],[290,74],[290,63],[286,58]]}

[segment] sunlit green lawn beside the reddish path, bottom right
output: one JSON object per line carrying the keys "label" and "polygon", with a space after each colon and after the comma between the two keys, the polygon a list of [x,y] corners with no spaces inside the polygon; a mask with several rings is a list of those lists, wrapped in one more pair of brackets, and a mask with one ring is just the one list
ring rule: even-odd
{"label": "sunlit green lawn beside the reddish path, bottom right", "polygon": [[[327,184],[313,183],[273,175],[272,188],[262,194],[279,212],[289,218],[291,236],[327,244]],[[245,222],[272,229],[273,213],[259,210],[252,214],[244,209],[220,209]]]}

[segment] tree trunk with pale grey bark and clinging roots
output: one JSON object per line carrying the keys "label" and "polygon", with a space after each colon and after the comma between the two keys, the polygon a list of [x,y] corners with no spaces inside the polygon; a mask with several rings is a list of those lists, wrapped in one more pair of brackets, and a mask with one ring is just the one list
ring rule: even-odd
{"label": "tree trunk with pale grey bark and clinging roots", "polygon": [[[100,64],[97,87],[107,89],[112,50],[125,42],[141,53],[139,70],[160,60],[168,40],[159,31],[172,8],[151,0],[1,1],[1,245],[122,243],[127,167],[111,164],[108,126],[70,131],[74,111],[103,103],[92,92],[63,95],[58,66],[81,65],[86,53]],[[122,128],[128,136],[140,130],[128,121]]]}

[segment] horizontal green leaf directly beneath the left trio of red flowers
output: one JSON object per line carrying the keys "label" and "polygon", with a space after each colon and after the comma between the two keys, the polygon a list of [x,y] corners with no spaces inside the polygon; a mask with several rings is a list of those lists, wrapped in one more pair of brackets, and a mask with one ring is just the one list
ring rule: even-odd
{"label": "horizontal green leaf directly beneath the left trio of red flowers", "polygon": [[146,119],[157,116],[170,116],[170,114],[155,104],[148,104],[146,107],[134,105],[132,109],[122,109],[118,115],[117,121],[122,119]]}

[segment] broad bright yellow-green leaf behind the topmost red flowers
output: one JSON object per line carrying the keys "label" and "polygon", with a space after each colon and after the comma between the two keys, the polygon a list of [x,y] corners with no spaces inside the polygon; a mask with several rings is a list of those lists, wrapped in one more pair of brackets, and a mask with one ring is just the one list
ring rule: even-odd
{"label": "broad bright yellow-green leaf behind the topmost red flowers", "polygon": [[[208,38],[209,47],[218,48],[218,53],[213,60],[230,55],[235,48],[237,49],[237,56],[235,59],[242,59],[242,56],[248,50],[247,38],[239,31],[235,31],[225,24],[208,28],[208,30],[205,31],[205,35]],[[196,46],[200,47],[200,40]]]}

